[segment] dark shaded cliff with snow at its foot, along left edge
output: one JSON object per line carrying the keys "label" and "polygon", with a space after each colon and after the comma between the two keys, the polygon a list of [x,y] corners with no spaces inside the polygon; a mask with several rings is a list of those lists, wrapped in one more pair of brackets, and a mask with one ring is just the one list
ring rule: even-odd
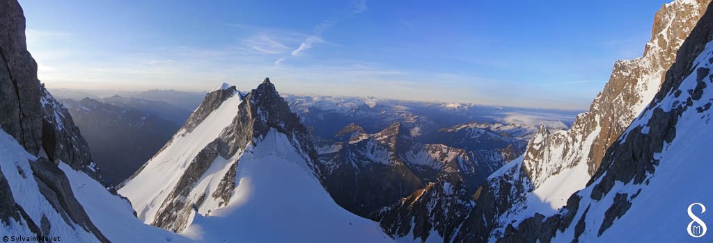
{"label": "dark shaded cliff with snow at its foot, along left edge", "polygon": [[71,116],[37,79],[17,1],[0,2],[0,30],[2,232],[108,242],[58,168],[65,163],[101,180]]}

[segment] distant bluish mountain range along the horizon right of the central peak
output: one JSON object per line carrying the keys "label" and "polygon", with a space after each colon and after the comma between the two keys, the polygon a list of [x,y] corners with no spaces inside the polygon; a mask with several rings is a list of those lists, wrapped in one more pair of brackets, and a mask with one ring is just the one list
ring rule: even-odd
{"label": "distant bluish mountain range along the horizon right of the central peak", "polygon": [[359,97],[283,95],[300,121],[316,136],[330,138],[340,129],[355,123],[367,133],[376,133],[394,122],[413,129],[419,141],[427,141],[439,129],[458,124],[501,123],[567,129],[580,111],[528,109],[476,104],[411,102]]}

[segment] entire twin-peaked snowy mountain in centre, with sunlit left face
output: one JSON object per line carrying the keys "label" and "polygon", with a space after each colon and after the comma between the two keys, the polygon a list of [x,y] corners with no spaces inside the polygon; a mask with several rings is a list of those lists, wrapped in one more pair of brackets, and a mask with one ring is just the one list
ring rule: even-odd
{"label": "entire twin-peaked snowy mountain in centre, with sunlit left face", "polygon": [[[145,222],[201,241],[272,242],[278,235],[265,234],[267,229],[308,232],[305,227],[315,223],[329,232],[352,234],[355,241],[389,239],[375,222],[352,215],[329,198],[316,160],[307,129],[266,79],[245,95],[235,87],[208,93],[183,129],[119,193]],[[298,191],[294,188],[301,188],[298,194],[304,196],[292,195]],[[256,214],[261,210],[275,215],[274,221]],[[226,220],[245,229],[221,227]],[[275,225],[282,220],[294,224]],[[350,222],[354,227],[343,228]],[[324,235],[294,237],[325,241],[320,238]]]}

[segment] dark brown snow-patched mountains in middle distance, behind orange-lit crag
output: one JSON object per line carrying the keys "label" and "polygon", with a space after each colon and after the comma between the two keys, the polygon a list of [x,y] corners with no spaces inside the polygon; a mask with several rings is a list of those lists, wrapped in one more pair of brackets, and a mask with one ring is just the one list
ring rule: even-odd
{"label": "dark brown snow-patched mountains in middle distance, behind orange-lit crag", "polygon": [[376,134],[356,124],[341,131],[319,144],[319,164],[334,200],[357,215],[372,217],[429,182],[459,182],[475,191],[476,168],[462,149],[419,144],[399,123]]}

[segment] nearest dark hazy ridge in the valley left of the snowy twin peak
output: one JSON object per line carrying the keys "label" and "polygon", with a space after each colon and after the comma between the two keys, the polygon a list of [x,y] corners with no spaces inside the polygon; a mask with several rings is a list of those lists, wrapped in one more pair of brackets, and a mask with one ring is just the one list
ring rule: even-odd
{"label": "nearest dark hazy ridge in the valley left of the snowy twin peak", "polygon": [[60,102],[87,140],[94,161],[104,168],[101,173],[107,185],[128,178],[180,127],[158,115],[96,99]]}

